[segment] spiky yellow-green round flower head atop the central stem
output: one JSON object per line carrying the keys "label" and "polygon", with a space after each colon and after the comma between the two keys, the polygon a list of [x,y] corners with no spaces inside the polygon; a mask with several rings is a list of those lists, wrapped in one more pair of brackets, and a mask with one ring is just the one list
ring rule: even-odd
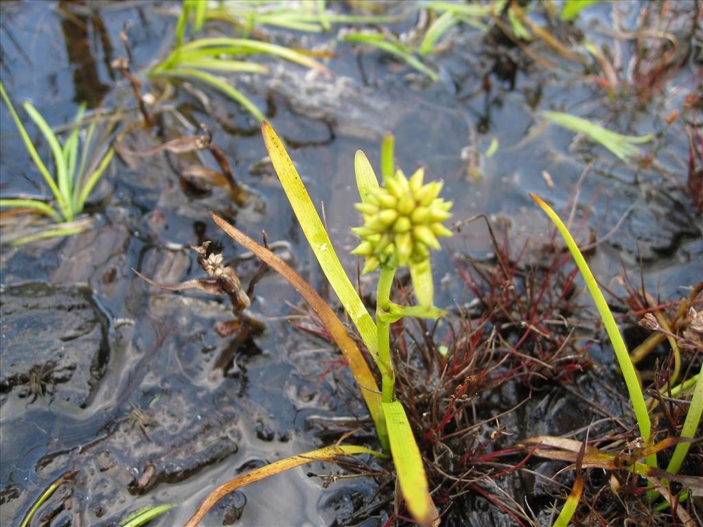
{"label": "spiky yellow-green round flower head atop the central stem", "polygon": [[362,239],[352,254],[366,256],[363,273],[425,261],[430,249],[439,249],[438,236],[451,236],[441,222],[451,217],[452,203],[437,197],[441,181],[423,185],[424,176],[424,169],[409,180],[396,171],[354,205],[363,214],[363,226],[352,229]]}

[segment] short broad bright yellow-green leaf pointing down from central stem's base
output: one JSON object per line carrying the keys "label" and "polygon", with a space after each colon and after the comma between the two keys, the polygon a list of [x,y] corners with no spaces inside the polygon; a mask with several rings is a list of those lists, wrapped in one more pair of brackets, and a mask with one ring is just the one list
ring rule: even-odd
{"label": "short broad bright yellow-green leaf pointing down from central stem's base", "polygon": [[420,525],[437,526],[439,514],[427,486],[423,457],[420,455],[403,405],[400,401],[393,401],[381,403],[381,407],[386,417],[393,464],[408,510]]}

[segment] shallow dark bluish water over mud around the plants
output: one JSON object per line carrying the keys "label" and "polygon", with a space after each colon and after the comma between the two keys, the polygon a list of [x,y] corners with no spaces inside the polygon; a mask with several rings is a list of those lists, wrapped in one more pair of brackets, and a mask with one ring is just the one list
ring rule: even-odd
{"label": "shallow dark bluish water over mud around the plants", "polygon": [[[642,5],[621,7],[625,25],[636,20]],[[172,43],[175,18],[169,12],[177,7],[105,2],[84,12],[82,6],[56,2],[3,2],[2,80],[15,108],[30,99],[49,124],[60,126],[86,100],[89,109],[101,103],[106,111],[124,108],[124,124],[138,122],[129,85],[108,67],[124,54],[118,35],[129,20],[132,67],[144,72]],[[63,15],[66,8],[74,14]],[[413,8],[395,9],[408,15],[391,27],[409,30],[417,20]],[[610,6],[595,6],[577,25],[594,41],[608,41],[602,28],[611,16]],[[301,48],[321,46],[335,34],[278,33],[280,40]],[[536,111],[605,119],[624,134],[658,133],[692,93],[700,42],[664,91],[640,107],[629,91],[610,103],[602,89],[584,81],[583,68],[567,64],[546,46],[534,47],[570,74],[524,57],[517,63],[506,59],[508,52],[480,30],[462,27],[452,44],[429,61],[440,72],[434,84],[404,63],[377,51],[359,55],[344,42],[337,42],[335,57],[325,60],[333,72],[329,77],[276,63],[271,76],[243,82],[291,146],[314,202],[323,202],[330,237],[350,275],[356,274],[356,260],[347,254],[355,245],[349,227],[359,222],[351,207],[358,199],[354,151],[364,150],[377,165],[380,138],[390,131],[396,136],[397,163],[406,172],[423,165],[428,177],[444,179],[443,195],[454,202],[454,219],[487,214],[507,224],[515,240],[548,238],[548,223],[527,193],[562,209],[584,167],[593,162],[577,196],[579,216],[591,207],[579,235],[585,240],[592,233],[598,239],[616,229],[591,256],[600,281],[622,293],[611,278],[621,266],[638,276],[641,262],[650,291],[662,299],[686,294],[682,288],[701,277],[703,241],[700,216],[682,190],[688,160],[683,126],[666,132],[653,168],[636,169],[587,139],[574,140],[574,133],[546,124]],[[160,90],[149,84],[145,89]],[[209,109],[192,90],[176,89],[155,129],[131,131],[124,144],[146,150],[193,135],[197,124],[206,122],[238,181],[250,189],[244,207],[223,188],[197,192],[184,185],[179,170],[189,162],[187,155],[158,154],[134,166],[116,157],[89,200],[90,230],[2,248],[0,523],[20,523],[46,486],[75,469],[72,505],[59,507],[52,525],[114,524],[138,507],[163,502],[183,505],[153,524],[181,524],[210,489],[240,471],[325,444],[320,438],[325,419],[366,416],[359,401],[337,393],[347,393],[344,383],[353,387],[348,375],[341,375],[344,383],[328,375],[318,384],[326,367],[322,360],[335,357],[335,350],[285,320],[301,302],[274,273],[259,282],[249,311],[266,331],[221,339],[213,327],[231,318],[227,301],[157,290],[131,272],[136,268],[169,283],[201,278],[188,246],[208,239],[223,247],[246,284],[257,264],[241,258],[243,250],[217,230],[208,216],[214,210],[254,238],[265,229],[271,242],[288,242],[279,244],[279,254],[323,296],[329,294],[275,174],[262,163],[266,151],[257,124],[230,100],[204,93]],[[0,116],[3,197],[46,195],[4,104]],[[49,157],[40,134],[23,120],[40,154]],[[498,150],[488,158],[485,152],[494,139]],[[651,149],[646,145],[643,152]],[[200,159],[217,168],[209,157]],[[444,247],[434,260],[434,274],[437,284],[441,279],[438,304],[451,306],[463,301],[451,256],[468,252],[482,258],[492,249],[478,225],[463,229]],[[330,302],[336,305],[336,299]],[[64,316],[65,311],[71,315]],[[53,349],[57,341],[61,344]],[[51,353],[60,359],[53,360]],[[597,358],[610,360],[608,353]],[[48,360],[53,363],[41,375],[49,393],[30,403],[31,396],[20,397],[30,386],[17,375]],[[549,430],[528,426],[520,435],[560,434],[583,421],[549,423]],[[368,500],[374,490],[371,481],[352,479],[323,488],[318,479],[305,477],[308,471],[332,470],[304,467],[244,488],[208,521],[220,524],[226,513],[231,519],[239,512],[241,525],[330,524],[358,509],[361,497]],[[65,495],[57,493],[46,510],[56,509],[61,500]],[[369,524],[383,523],[385,514],[385,509],[378,512]],[[466,514],[466,521],[494,521],[492,512],[480,508]]]}

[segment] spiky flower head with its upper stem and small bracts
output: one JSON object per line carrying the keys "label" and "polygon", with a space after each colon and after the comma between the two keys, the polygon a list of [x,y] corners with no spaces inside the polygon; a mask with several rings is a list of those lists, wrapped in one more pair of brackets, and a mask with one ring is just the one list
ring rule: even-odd
{"label": "spiky flower head with its upper stem and small bracts", "polygon": [[[386,152],[392,142],[386,141]],[[392,159],[392,152],[385,154]],[[430,249],[439,249],[438,236],[451,236],[442,225],[449,219],[451,202],[437,197],[440,181],[423,184],[424,169],[409,179],[402,171],[393,173],[392,162],[383,166],[384,186],[378,186],[370,163],[363,152],[356,152],[356,181],[362,202],[356,209],[363,214],[363,226],[352,231],[363,240],[352,254],[365,256],[363,273],[380,268],[376,291],[378,356],[374,356],[382,375],[382,401],[394,397],[395,374],[389,351],[390,323],[404,316],[438,318],[434,308],[434,286]],[[390,301],[389,294],[399,267],[408,266],[419,306],[403,307]]]}

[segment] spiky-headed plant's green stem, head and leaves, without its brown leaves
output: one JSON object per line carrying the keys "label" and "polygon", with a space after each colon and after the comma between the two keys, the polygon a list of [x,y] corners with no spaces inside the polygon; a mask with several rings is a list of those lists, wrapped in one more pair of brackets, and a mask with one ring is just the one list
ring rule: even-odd
{"label": "spiky-headed plant's green stem, head and leaves, without its brown leaves", "polygon": [[[382,147],[380,187],[373,168],[360,150],[354,159],[356,185],[364,224],[354,229],[362,238],[355,254],[366,256],[364,272],[380,268],[376,297],[375,332],[373,320],[363,306],[349,277],[337,259],[330,239],[312,204],[283,143],[266,122],[262,124],[264,143],[273,168],[302,226],[323,273],[332,285],[344,309],[359,328],[361,339],[375,360],[382,378],[381,408],[384,424],[378,434],[384,450],[390,449],[408,509],[420,523],[429,523],[436,514],[427,490],[427,476],[422,457],[412,434],[405,410],[394,399],[394,368],[389,349],[390,324],[405,316],[437,318],[430,266],[430,249],[438,249],[437,236],[451,235],[441,221],[449,217],[451,202],[437,197],[440,182],[423,184],[424,171],[415,172],[408,181],[402,171],[394,171],[392,141]],[[415,287],[418,306],[399,306],[389,299],[392,280],[399,266],[407,265]],[[362,386],[363,389],[363,386]]]}

